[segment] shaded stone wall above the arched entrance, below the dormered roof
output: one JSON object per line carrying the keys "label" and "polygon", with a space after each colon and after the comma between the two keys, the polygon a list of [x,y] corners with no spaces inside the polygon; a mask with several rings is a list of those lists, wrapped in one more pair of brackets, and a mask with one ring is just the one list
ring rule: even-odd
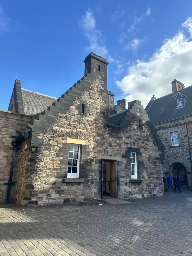
{"label": "shaded stone wall above the arched entrance, below the dormered roof", "polygon": [[[163,163],[163,171],[166,174],[170,173],[171,175],[173,175],[173,164],[176,162],[182,163],[187,170],[188,185],[192,186],[192,173],[186,124],[188,127],[190,151],[192,153],[192,117],[182,118],[159,125],[157,124],[155,125],[155,129],[165,147],[165,160]],[[172,146],[172,132],[178,132],[179,146]]]}

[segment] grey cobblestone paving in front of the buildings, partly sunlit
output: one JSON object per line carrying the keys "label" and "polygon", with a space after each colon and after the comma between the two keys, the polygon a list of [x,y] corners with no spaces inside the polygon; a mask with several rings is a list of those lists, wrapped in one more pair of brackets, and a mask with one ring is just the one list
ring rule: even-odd
{"label": "grey cobblestone paving in front of the buildings, partly sunlit", "polygon": [[0,255],[192,255],[192,191],[98,204],[1,205]]}

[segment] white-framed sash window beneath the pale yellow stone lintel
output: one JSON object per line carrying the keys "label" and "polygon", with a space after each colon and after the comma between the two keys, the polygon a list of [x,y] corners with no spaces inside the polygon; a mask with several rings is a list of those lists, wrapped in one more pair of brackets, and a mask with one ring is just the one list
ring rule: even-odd
{"label": "white-framed sash window beneath the pale yellow stone lintel", "polygon": [[80,145],[69,144],[69,159],[67,178],[79,178]]}

